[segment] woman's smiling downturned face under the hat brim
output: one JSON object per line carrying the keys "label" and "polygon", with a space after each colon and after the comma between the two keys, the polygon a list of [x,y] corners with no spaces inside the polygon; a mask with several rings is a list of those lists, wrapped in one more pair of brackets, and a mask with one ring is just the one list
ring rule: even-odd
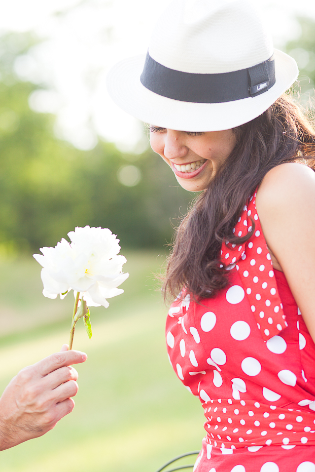
{"label": "woman's smiling downturned face under the hat brim", "polygon": [[232,130],[196,133],[150,126],[152,149],[173,170],[178,183],[191,192],[208,186],[235,142]]}

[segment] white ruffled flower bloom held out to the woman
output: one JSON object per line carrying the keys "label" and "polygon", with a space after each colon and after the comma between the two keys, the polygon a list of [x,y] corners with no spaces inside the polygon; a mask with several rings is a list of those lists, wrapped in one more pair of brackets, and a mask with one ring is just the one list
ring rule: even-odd
{"label": "white ruffled flower bloom held out to the woman", "polygon": [[65,297],[69,290],[82,294],[88,306],[109,306],[107,298],[123,293],[117,287],[128,277],[122,273],[126,262],[119,240],[108,228],[76,228],[70,231],[71,243],[62,239],[54,248],[41,248],[33,257],[43,266],[43,294]]}

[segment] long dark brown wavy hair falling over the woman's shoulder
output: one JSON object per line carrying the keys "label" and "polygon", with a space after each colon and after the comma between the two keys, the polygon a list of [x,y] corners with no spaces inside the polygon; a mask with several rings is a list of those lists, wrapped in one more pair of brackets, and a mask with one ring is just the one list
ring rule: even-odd
{"label": "long dark brown wavy hair falling over the woman's shoulder", "polygon": [[219,261],[222,242],[238,244],[251,237],[252,232],[238,238],[232,230],[267,172],[297,161],[315,170],[315,131],[288,95],[233,131],[234,149],[176,230],[164,276],[165,298],[178,296],[183,287],[194,299],[214,297],[228,284],[228,271]]}

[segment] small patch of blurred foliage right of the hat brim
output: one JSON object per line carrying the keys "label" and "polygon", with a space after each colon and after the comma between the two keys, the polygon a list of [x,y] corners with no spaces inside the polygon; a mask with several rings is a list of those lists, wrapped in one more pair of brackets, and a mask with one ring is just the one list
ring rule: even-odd
{"label": "small patch of blurred foliage right of the hat brim", "polygon": [[300,71],[294,89],[303,106],[310,109],[313,108],[315,86],[315,21],[304,17],[297,21],[301,34],[287,43],[286,52],[294,57]]}

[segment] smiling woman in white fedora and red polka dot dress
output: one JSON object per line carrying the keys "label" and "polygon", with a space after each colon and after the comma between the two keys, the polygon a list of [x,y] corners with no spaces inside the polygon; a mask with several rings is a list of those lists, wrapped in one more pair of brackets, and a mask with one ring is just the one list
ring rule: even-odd
{"label": "smiling woman in white fedora and red polka dot dress", "polygon": [[172,2],[145,65],[109,74],[202,191],[164,284],[170,361],[206,418],[197,472],[315,471],[315,132],[284,95],[297,74],[246,0]]}

